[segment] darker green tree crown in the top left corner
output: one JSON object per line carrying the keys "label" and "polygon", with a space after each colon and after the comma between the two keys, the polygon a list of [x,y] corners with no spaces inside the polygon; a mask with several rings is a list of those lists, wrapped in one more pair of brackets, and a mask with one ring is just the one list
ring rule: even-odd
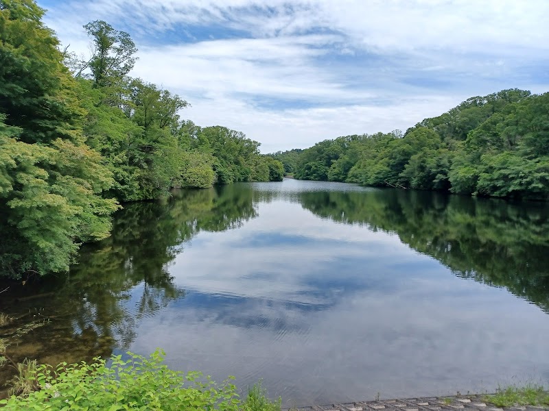
{"label": "darker green tree crown in the top left corner", "polygon": [[0,1],[0,114],[28,143],[73,138],[82,114],[43,14],[34,1]]}

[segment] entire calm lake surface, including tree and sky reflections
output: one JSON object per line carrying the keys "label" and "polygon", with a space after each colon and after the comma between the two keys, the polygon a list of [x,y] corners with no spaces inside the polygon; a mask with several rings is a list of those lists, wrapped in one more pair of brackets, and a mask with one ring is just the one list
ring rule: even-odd
{"label": "entire calm lake surface, including tree and sky reflections", "polygon": [[69,277],[13,291],[0,310],[44,323],[15,358],[163,347],[175,369],[262,378],[289,405],[549,379],[542,203],[294,180],[178,191],[126,206]]}

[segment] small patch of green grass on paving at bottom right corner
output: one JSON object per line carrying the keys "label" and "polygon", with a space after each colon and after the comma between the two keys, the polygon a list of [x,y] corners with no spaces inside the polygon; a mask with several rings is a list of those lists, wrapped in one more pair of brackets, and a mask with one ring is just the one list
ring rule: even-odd
{"label": "small patch of green grass on paving at bottom right corner", "polygon": [[484,401],[498,407],[512,406],[545,406],[549,407],[549,393],[544,386],[526,384],[525,386],[508,386],[498,388],[495,394],[487,395]]}

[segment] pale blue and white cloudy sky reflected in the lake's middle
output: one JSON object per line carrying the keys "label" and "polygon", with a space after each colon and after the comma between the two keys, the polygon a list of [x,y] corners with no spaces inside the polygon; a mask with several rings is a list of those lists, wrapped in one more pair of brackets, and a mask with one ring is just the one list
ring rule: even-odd
{"label": "pale blue and white cloudy sky reflected in the lake's middle", "polygon": [[235,375],[240,387],[262,378],[288,405],[549,378],[549,316],[538,306],[456,277],[398,233],[334,222],[296,201],[303,191],[372,190],[253,187],[255,218],[199,232],[167,264],[185,298],[143,318],[132,351],[163,347],[170,366]]}

